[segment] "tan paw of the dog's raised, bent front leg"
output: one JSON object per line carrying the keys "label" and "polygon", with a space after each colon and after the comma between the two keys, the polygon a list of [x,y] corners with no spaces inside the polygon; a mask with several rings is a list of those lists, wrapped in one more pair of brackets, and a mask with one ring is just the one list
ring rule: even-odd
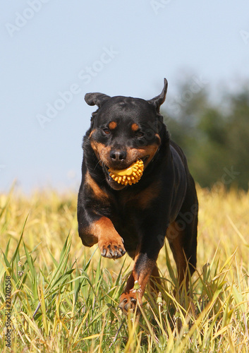
{"label": "tan paw of the dog's raised, bent front leg", "polygon": [[99,240],[99,249],[104,258],[121,258],[126,253],[121,237],[116,239]]}

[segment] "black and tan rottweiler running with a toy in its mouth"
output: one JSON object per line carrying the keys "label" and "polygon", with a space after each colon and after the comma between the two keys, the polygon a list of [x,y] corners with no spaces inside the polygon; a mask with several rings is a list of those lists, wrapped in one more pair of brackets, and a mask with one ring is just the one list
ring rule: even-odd
{"label": "black and tan rottweiler running with a toy in its mouth", "polygon": [[[160,284],[157,257],[168,239],[179,285],[195,272],[198,196],[183,151],[159,112],[168,83],[152,100],[87,93],[97,105],[83,138],[82,181],[78,193],[78,233],[85,246],[98,244],[101,255],[135,261],[121,294],[123,313],[142,303],[145,287]],[[127,170],[142,161],[140,180],[121,184],[110,169]]]}

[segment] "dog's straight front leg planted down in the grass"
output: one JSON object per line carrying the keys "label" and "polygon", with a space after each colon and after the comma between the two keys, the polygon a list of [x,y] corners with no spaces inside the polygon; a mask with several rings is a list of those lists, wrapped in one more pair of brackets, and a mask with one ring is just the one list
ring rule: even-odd
{"label": "dog's straight front leg planted down in the grass", "polygon": [[137,300],[142,304],[145,287],[157,266],[157,257],[163,244],[162,237],[150,236],[142,239],[142,244],[135,256],[133,271],[128,278],[123,294],[121,294],[119,308],[123,313],[127,313],[128,309],[135,309]]}

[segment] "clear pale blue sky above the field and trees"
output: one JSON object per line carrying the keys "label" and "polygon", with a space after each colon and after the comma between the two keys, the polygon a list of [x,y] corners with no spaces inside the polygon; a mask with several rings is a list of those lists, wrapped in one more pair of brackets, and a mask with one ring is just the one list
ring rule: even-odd
{"label": "clear pale blue sky above the field and trees", "polygon": [[0,4],[0,191],[77,191],[87,92],[146,100],[188,73],[192,94],[249,79],[249,3],[18,0]]}

